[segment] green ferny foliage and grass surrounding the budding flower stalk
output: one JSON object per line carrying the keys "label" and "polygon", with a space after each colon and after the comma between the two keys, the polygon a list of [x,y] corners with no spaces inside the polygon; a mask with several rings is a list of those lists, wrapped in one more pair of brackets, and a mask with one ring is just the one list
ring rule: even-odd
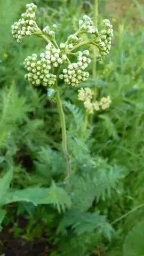
{"label": "green ferny foliage and grass surrounding the budding flower stalk", "polygon": [[[27,1],[0,2],[2,255],[144,254],[143,3],[99,2],[98,26],[103,18],[114,26],[110,53],[96,67],[91,62],[87,82],[59,86],[72,167],[68,183],[57,106],[43,86],[24,78],[23,61],[45,44],[37,37],[15,43],[10,27]],[[94,20],[92,1],[35,3],[39,27],[56,23],[59,43],[85,13]],[[93,47],[89,51],[93,59]],[[87,86],[112,102],[90,118],[82,138],[84,108],[77,95]]]}

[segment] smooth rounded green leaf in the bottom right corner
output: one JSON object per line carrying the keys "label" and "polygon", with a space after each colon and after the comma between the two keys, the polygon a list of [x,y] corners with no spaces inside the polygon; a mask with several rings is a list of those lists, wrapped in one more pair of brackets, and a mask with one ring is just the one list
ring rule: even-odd
{"label": "smooth rounded green leaf in the bottom right corner", "polygon": [[144,256],[144,221],[140,221],[127,234],[123,244],[123,256]]}

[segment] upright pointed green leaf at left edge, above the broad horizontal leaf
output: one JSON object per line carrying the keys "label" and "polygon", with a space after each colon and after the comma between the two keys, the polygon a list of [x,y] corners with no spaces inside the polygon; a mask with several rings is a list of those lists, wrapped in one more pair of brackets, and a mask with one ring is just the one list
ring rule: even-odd
{"label": "upright pointed green leaf at left edge, above the broad horizontal leaf", "polygon": [[8,171],[3,178],[0,179],[0,204],[4,199],[7,189],[10,187],[10,183],[13,177],[12,169]]}

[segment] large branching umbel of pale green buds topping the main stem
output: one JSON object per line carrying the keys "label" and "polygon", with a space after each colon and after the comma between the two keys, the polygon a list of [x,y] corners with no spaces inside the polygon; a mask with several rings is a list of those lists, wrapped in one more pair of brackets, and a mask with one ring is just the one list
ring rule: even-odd
{"label": "large branching umbel of pale green buds topping the main stem", "polygon": [[[50,69],[59,69],[59,66],[65,64],[60,79],[70,86],[77,86],[82,81],[85,82],[89,73],[85,71],[91,63],[89,50],[75,51],[81,46],[93,44],[99,49],[99,57],[104,58],[110,50],[111,38],[113,37],[113,28],[109,20],[102,21],[102,30],[95,28],[93,21],[87,15],[79,20],[79,28],[75,34],[69,35],[65,43],[57,44],[55,33],[57,25],[53,24],[52,28],[46,26],[41,30],[36,24],[36,5],[31,3],[26,5],[26,12],[21,14],[21,19],[12,25],[12,35],[18,43],[22,42],[24,36],[32,34],[42,37],[46,42],[45,51],[37,55],[33,54],[24,61],[28,74],[25,76],[34,85],[53,86],[56,77],[50,73]],[[82,34],[87,34],[88,39],[83,40]],[[89,35],[90,38],[89,38]],[[76,60],[71,63],[69,57],[73,55]],[[57,72],[58,73],[58,72]],[[90,102],[86,101],[85,106],[90,107]],[[87,107],[88,108],[88,107]],[[98,107],[95,108],[97,109]]]}

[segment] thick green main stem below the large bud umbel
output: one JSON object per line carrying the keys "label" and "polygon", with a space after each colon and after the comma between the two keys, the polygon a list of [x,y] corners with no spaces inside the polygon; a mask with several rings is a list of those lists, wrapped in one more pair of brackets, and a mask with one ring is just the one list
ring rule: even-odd
{"label": "thick green main stem below the large bud umbel", "polygon": [[[58,68],[54,69],[54,75],[58,76]],[[67,172],[68,172],[68,176],[69,176],[71,174],[71,165],[70,165],[70,157],[69,157],[68,150],[67,150],[67,134],[66,134],[65,114],[63,112],[62,103],[60,100],[60,94],[59,94],[59,90],[58,90],[58,82],[57,81],[55,82],[54,89],[57,90],[55,99],[57,101],[58,111],[59,111],[59,115],[60,115],[61,130],[62,130],[62,148],[63,148],[63,152],[66,157]]]}

